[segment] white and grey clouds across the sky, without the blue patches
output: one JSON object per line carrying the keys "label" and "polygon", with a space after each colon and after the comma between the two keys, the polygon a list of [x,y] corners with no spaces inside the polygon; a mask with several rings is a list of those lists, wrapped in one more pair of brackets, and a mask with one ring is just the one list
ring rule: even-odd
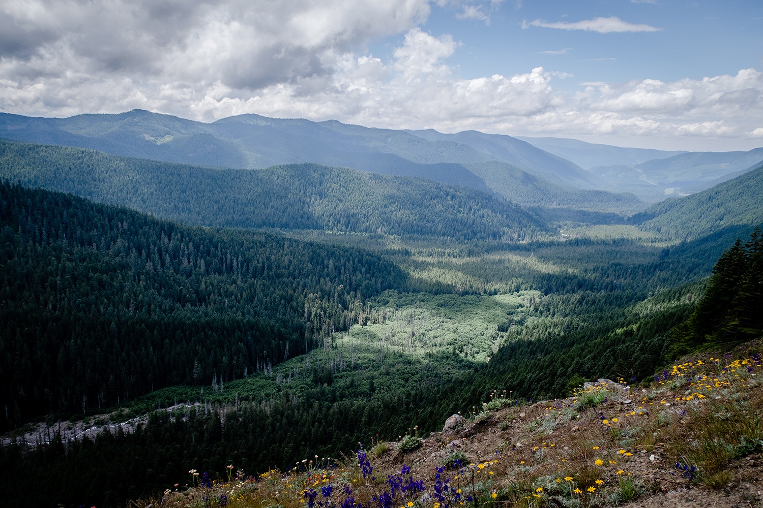
{"label": "white and grey clouds across the sky, without the blue patches", "polygon": [[[6,0],[0,5],[0,110],[66,117],[143,108],[204,121],[259,113],[445,132],[688,136],[763,145],[763,75],[756,69],[674,82],[597,82],[578,92],[555,87],[563,75],[542,67],[459,78],[459,69],[447,63],[459,41],[421,28],[434,5]],[[497,9],[520,4],[439,5],[455,18],[487,25]],[[517,30],[523,28],[660,30],[617,17],[531,21]],[[394,34],[404,39],[385,59],[369,53],[369,43]]]}

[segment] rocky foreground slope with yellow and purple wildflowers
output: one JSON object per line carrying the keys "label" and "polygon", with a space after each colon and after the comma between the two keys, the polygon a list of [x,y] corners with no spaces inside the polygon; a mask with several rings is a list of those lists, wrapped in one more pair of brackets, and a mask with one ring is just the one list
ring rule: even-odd
{"label": "rocky foreground slope with yellow and purple wildflowers", "polygon": [[420,439],[414,427],[291,471],[189,464],[134,506],[757,506],[760,351],[756,340],[687,356],[640,385],[604,380],[564,399],[494,393],[452,430]]}

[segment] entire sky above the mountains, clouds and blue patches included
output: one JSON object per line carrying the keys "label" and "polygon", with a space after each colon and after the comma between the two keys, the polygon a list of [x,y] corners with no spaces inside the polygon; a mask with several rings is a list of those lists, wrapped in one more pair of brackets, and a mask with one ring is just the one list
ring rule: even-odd
{"label": "entire sky above the mountains, clouds and blue patches included", "polygon": [[763,146],[760,0],[0,0],[0,111]]}

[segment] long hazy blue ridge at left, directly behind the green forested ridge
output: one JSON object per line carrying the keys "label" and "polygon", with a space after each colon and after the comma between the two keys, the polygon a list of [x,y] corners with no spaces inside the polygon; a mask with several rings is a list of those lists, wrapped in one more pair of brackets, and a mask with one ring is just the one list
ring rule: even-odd
{"label": "long hazy blue ridge at left, directly behind the green forested ridge", "polygon": [[[421,134],[425,136],[427,133]],[[30,118],[0,113],[0,138],[71,145],[115,155],[225,168],[266,168],[272,165],[315,163],[342,166],[379,174],[425,177],[444,184],[477,190],[498,190],[486,183],[469,165],[490,161],[519,166],[506,171],[504,185],[517,192],[504,193],[515,200],[527,187],[525,177],[546,184],[553,181],[562,200],[575,206],[603,206],[620,210],[622,196],[611,193],[578,196],[581,188],[601,187],[596,177],[569,161],[542,152],[510,136],[462,133],[425,139],[404,130],[372,129],[329,120],[281,120],[255,114],[224,118],[214,123],[193,122],[168,115],[133,110],[116,115],[79,115],[65,119]],[[453,137],[456,136],[456,137]],[[483,152],[482,150],[485,150]],[[519,171],[521,176],[513,173]],[[594,181],[591,181],[591,180]],[[549,183],[550,183],[549,181]],[[529,186],[529,187],[528,187]],[[622,212],[642,206],[635,196]],[[531,204],[517,202],[520,204]]]}

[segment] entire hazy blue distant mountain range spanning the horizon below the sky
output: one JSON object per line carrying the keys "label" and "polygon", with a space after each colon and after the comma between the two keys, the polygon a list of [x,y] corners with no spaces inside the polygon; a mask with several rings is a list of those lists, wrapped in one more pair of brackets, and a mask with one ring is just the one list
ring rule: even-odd
{"label": "entire hazy blue distant mountain range spanning the horizon below the sky", "polygon": [[[132,110],[69,118],[0,113],[0,138],[221,168],[314,163],[423,177],[523,206],[629,215],[706,190],[763,161],[749,152],[668,152],[562,138],[375,129],[245,114],[214,123]],[[556,215],[559,215],[556,213]]]}

